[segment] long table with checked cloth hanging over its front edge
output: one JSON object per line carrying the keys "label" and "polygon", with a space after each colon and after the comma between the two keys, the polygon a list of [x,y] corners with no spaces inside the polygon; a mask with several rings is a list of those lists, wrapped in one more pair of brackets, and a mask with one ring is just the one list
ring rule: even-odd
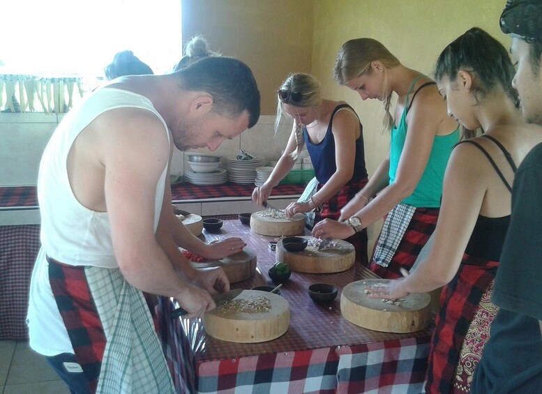
{"label": "long table with checked cloth hanging over its front edge", "polygon": [[[272,285],[267,271],[274,237],[260,236],[239,220],[226,220],[207,241],[241,236],[257,253],[257,274],[232,288]],[[176,303],[160,300],[160,335],[179,392],[197,393],[421,393],[431,328],[411,334],[379,333],[340,314],[340,292],[329,305],[315,304],[307,288],[326,282],[342,289],[375,275],[360,264],[342,273],[292,273],[280,289],[290,306],[287,333],[269,342],[239,344],[206,335],[200,319],[170,319]],[[340,291],[340,290],[339,290]],[[186,333],[186,335],[185,335]],[[184,360],[188,360],[188,363]]]}

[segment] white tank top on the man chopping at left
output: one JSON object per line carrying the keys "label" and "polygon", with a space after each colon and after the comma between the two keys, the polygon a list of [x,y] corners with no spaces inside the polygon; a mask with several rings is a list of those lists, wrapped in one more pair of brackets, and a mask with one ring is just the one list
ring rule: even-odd
{"label": "white tank top on the man chopping at left", "polygon": [[[116,268],[107,212],[87,209],[77,201],[70,187],[67,160],[70,148],[81,130],[109,109],[136,107],[148,109],[164,123],[151,101],[130,91],[103,88],[72,109],[59,124],[40,162],[38,202],[41,214],[42,247],[53,259],[74,266]],[[154,206],[154,231],[158,227],[164,197],[167,164],[158,181]]]}

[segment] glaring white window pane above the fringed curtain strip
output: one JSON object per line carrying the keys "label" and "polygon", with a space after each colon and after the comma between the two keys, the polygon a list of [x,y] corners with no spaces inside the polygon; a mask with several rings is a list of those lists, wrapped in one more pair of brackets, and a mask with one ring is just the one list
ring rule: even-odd
{"label": "glaring white window pane above the fringed curtain strip", "polygon": [[103,77],[131,50],[155,74],[181,59],[181,0],[3,1],[0,61],[21,73]]}

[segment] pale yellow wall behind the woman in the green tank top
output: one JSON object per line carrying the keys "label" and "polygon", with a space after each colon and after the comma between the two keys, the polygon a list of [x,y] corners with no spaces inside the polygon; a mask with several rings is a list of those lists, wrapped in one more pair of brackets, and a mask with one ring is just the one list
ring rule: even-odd
{"label": "pale yellow wall behind the woman in the green tank top", "polygon": [[440,52],[456,37],[479,26],[509,47],[499,28],[504,0],[318,0],[314,1],[313,68],[325,96],[345,100],[356,109],[364,126],[369,174],[386,154],[382,133],[382,103],[363,102],[331,77],[340,46],[352,38],[379,40],[402,64],[432,74]]}

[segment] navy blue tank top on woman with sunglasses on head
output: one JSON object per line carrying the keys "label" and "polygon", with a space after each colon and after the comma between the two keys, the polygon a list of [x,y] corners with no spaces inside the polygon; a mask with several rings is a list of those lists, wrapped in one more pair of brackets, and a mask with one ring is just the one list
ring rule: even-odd
{"label": "navy blue tank top on woman with sunglasses on head", "polygon": [[[303,137],[305,138],[305,143],[307,145],[307,151],[310,155],[310,160],[313,161],[313,167],[315,167],[316,179],[319,183],[326,183],[329,181],[331,176],[337,171],[337,165],[335,162],[335,137],[333,137],[333,132],[331,127],[333,126],[333,116],[341,108],[352,109],[354,114],[356,113],[352,107],[347,104],[340,104],[331,114],[331,119],[329,119],[329,125],[327,126],[326,135],[319,144],[313,144],[310,142],[308,137],[308,131],[306,127],[303,127]],[[357,116],[357,115],[356,115]],[[359,118],[358,118],[359,119]],[[361,122],[359,123],[359,128],[361,130],[359,138],[356,139],[356,157],[354,158],[354,175],[349,182],[360,181],[361,179],[367,178],[367,169],[365,167],[365,151],[363,147],[363,126]]]}

